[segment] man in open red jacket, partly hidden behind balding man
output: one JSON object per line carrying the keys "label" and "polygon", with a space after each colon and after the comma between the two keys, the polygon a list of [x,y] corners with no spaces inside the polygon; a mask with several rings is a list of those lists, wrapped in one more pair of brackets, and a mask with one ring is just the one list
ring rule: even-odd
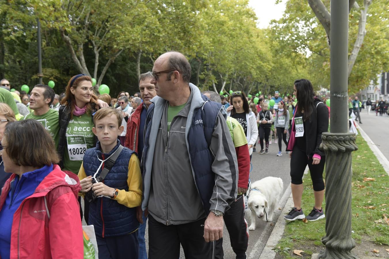
{"label": "man in open red jacket, partly hidden behind balding man", "polygon": [[[135,111],[131,113],[127,122],[126,139],[124,141],[125,147],[137,152],[139,161],[142,160],[144,145],[143,130],[145,127],[147,108],[149,108],[151,104],[150,100],[157,95],[154,84],[150,83],[151,79],[152,72],[140,75],[139,90],[143,103],[141,103]],[[140,223],[138,229],[139,259],[147,259],[146,243],[144,238],[147,212],[143,213],[141,207],[137,208],[137,218]]]}

